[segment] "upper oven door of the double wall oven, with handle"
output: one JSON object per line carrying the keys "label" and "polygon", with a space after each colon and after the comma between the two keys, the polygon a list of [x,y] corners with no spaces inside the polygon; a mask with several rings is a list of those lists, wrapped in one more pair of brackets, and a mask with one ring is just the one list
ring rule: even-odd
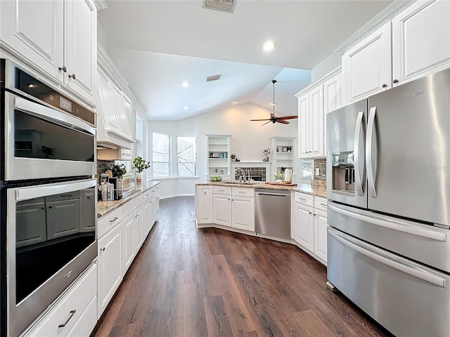
{"label": "upper oven door of the double wall oven, with handle", "polygon": [[70,114],[5,93],[4,180],[96,173],[96,130]]}

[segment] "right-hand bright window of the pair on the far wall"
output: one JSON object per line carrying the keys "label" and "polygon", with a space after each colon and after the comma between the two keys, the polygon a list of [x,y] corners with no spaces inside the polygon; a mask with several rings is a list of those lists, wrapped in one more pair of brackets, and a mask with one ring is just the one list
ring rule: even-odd
{"label": "right-hand bright window of the pair on the far wall", "polygon": [[197,169],[197,142],[195,137],[176,137],[176,174],[195,176]]}

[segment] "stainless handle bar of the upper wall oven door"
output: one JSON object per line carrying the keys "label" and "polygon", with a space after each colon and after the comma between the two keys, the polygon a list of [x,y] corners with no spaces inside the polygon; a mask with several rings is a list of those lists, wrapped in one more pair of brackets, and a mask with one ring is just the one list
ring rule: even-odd
{"label": "stainless handle bar of the upper wall oven door", "polygon": [[25,98],[13,95],[12,93],[8,94],[14,97],[14,107],[16,110],[45,119],[46,121],[51,121],[52,123],[56,123],[60,126],[71,128],[75,131],[81,131],[84,133],[89,133],[91,136],[96,136],[96,129],[81,119],[77,119],[76,117],[72,117],[70,114],[65,114],[58,110],[52,109],[51,107],[34,103],[31,100],[25,100]]}

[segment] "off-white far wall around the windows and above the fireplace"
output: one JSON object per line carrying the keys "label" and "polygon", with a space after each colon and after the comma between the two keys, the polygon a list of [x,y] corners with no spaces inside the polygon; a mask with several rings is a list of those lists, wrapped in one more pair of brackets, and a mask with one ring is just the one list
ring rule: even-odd
{"label": "off-white far wall around the windows and above the fireplace", "polygon": [[[173,171],[176,170],[176,136],[197,137],[197,178],[162,179],[161,196],[194,194],[195,180],[205,180],[207,160],[205,133],[231,135],[231,152],[236,153],[240,161],[261,162],[262,150],[270,147],[271,137],[297,137],[297,119],[291,120],[287,125],[270,123],[264,126],[261,126],[264,122],[250,121],[250,119],[269,118],[270,113],[271,110],[248,103],[177,121],[149,121],[150,132],[172,135],[172,172],[174,173],[176,173]],[[297,183],[311,183],[309,179],[300,179],[301,160],[297,159],[296,166]]]}

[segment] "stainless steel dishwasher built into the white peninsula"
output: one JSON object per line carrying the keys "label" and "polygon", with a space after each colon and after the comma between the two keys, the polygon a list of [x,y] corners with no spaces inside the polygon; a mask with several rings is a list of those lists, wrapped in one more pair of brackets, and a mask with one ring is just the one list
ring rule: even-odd
{"label": "stainless steel dishwasher built into the white peninsula", "polygon": [[290,239],[290,191],[255,188],[255,232]]}

